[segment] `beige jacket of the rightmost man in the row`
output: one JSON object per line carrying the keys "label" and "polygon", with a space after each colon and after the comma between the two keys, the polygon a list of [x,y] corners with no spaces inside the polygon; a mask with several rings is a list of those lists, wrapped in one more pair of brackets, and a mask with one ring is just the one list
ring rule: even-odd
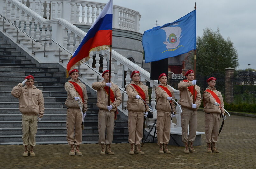
{"label": "beige jacket of the rightmost man in the row", "polygon": [[[214,91],[214,93],[217,94],[217,96],[220,99],[220,105],[222,107],[224,107],[223,98],[222,98],[221,93],[219,91],[217,91],[215,87],[214,88],[207,87],[205,90],[207,90],[207,89],[210,89],[210,90]],[[208,93],[208,92],[203,93],[203,101],[205,102],[204,103],[205,106],[203,108],[204,112],[218,113],[218,114],[225,113],[225,111],[221,110],[219,106],[214,105],[214,102],[216,102],[216,100],[215,100],[215,98],[213,98],[213,96],[210,93]]]}

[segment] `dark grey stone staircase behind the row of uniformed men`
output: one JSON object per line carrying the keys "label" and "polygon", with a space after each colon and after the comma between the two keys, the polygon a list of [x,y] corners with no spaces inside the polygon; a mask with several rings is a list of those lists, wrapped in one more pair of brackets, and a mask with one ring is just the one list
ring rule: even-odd
{"label": "dark grey stone staircase behind the row of uniformed men", "polygon": [[[0,145],[22,144],[21,113],[18,98],[11,95],[11,90],[21,83],[25,76],[35,77],[35,86],[43,91],[45,113],[38,123],[37,144],[67,144],[66,141],[66,106],[67,93],[64,84],[67,81],[60,65],[56,67],[38,66],[27,56],[21,55],[6,40],[0,37]],[[58,67],[59,66],[59,67]],[[98,108],[96,92],[87,86],[88,111],[85,117],[85,129],[82,143],[98,142]],[[128,142],[127,119],[122,116],[115,121],[113,142]]]}

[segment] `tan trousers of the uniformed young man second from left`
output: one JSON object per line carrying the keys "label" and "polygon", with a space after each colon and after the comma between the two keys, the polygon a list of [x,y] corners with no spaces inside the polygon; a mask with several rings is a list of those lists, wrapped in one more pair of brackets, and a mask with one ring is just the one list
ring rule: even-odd
{"label": "tan trousers of the uniformed young man second from left", "polygon": [[[80,145],[82,143],[82,114],[80,109],[68,108],[67,109],[67,141],[68,144]],[[74,136],[75,128],[75,136]]]}

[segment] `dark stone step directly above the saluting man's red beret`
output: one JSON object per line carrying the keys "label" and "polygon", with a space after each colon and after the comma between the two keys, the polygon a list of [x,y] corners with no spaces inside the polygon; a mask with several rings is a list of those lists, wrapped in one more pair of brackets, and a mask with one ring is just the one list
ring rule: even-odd
{"label": "dark stone step directly above the saluting man's red beret", "polygon": [[[1,60],[1,59],[0,59]],[[58,77],[66,77],[64,72],[49,72],[49,71],[0,71],[0,75],[5,76],[58,76]]]}

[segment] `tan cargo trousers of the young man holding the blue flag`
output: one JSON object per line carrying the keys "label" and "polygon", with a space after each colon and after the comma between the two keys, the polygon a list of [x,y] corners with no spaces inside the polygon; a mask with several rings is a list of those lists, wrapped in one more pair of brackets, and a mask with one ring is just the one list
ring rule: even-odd
{"label": "tan cargo trousers of the young man holding the blue flag", "polygon": [[[182,142],[195,141],[196,139],[196,127],[197,127],[197,111],[181,107],[181,128],[182,128]],[[189,136],[188,136],[189,125]]]}

